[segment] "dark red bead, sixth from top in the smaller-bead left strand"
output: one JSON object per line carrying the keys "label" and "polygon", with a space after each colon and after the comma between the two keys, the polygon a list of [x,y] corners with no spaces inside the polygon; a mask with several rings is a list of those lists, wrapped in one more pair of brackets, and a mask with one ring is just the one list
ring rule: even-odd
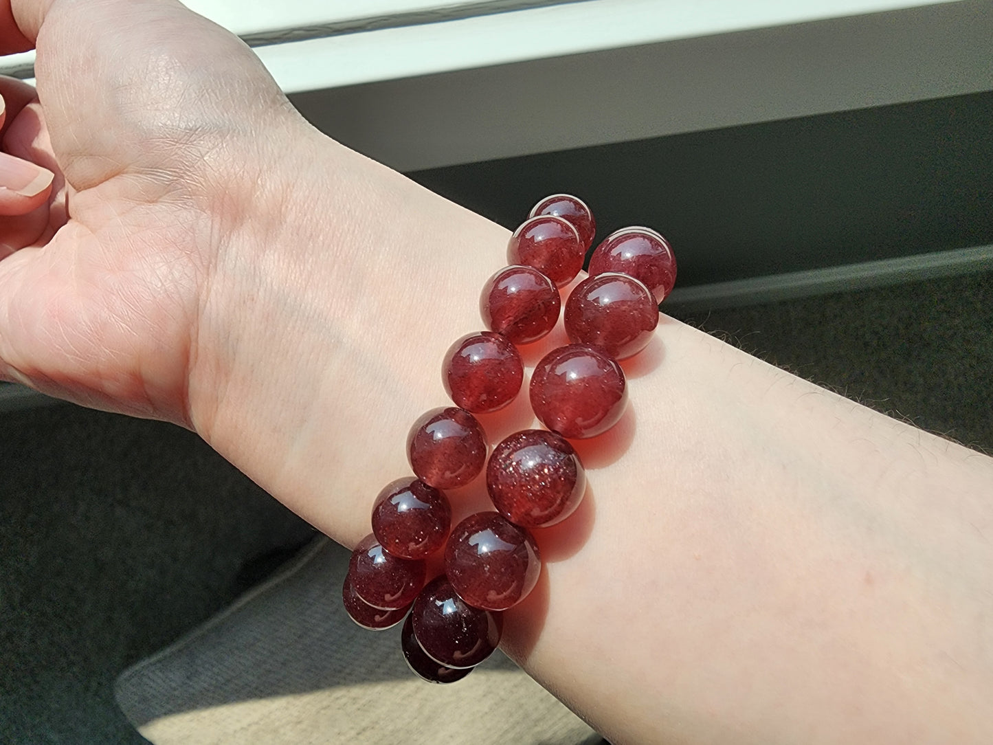
{"label": "dark red bead, sixth from top in the smaller-bead left strand", "polygon": [[372,505],[372,534],[400,558],[427,558],[445,545],[451,525],[448,498],[418,479],[389,483]]}

